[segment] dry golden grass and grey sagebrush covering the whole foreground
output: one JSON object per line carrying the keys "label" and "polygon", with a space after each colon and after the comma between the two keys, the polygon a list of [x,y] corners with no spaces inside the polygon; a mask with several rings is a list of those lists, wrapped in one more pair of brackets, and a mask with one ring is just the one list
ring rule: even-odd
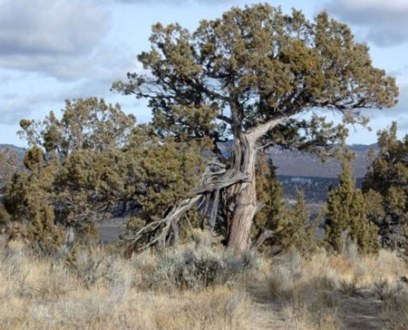
{"label": "dry golden grass and grey sagebrush covering the whole foreground", "polygon": [[[367,306],[382,299],[381,313],[372,324],[408,328],[408,295],[399,281],[408,272],[389,251],[360,257],[330,256],[320,250],[304,259],[293,250],[273,260],[237,259],[209,245],[180,246],[166,253],[146,252],[124,260],[115,253],[82,249],[68,262],[63,252],[43,258],[19,242],[2,244],[0,328],[363,328],[350,325],[352,320],[344,312],[352,306],[348,299],[362,299]],[[186,278],[192,281],[191,287],[177,285],[174,277],[184,266],[163,266],[169,260],[183,265],[186,258],[190,268],[182,278],[183,283]],[[214,265],[222,276],[202,281],[197,271],[207,266],[213,271]],[[362,308],[355,317],[363,320],[365,313],[374,312]]]}

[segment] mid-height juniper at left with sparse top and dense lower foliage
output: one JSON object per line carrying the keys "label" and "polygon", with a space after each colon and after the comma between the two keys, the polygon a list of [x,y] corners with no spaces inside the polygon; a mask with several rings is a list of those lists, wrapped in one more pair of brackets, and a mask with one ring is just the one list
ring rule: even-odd
{"label": "mid-height juniper at left with sparse top and dense lower foliage", "polygon": [[[17,173],[8,187],[6,206],[13,217],[37,219],[31,214],[40,212],[36,203],[22,202],[36,195],[44,195],[41,205],[53,208],[57,223],[85,230],[97,213],[103,217],[120,194],[119,148],[134,124],[135,117],[119,105],[96,97],[67,100],[61,119],[54,112],[42,121],[22,119],[18,133],[31,149],[24,158],[28,172]],[[41,212],[44,219],[54,218]]]}

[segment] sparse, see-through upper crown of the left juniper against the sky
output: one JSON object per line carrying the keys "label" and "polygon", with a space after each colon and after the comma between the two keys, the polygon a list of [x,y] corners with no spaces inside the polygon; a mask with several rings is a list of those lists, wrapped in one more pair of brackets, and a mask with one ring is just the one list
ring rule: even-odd
{"label": "sparse, see-through upper crown of the left juniper against the sky", "polygon": [[74,150],[104,151],[126,142],[136,122],[118,104],[106,104],[96,97],[66,100],[59,120],[50,112],[42,121],[22,119],[20,137],[29,145],[42,146],[46,153],[56,151],[67,157]]}

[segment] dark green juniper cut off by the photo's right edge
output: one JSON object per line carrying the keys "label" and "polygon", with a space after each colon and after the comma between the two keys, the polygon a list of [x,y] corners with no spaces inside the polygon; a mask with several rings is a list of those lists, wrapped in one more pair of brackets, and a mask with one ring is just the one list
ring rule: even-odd
{"label": "dark green juniper cut off by the photo's right edge", "polygon": [[408,248],[408,135],[397,139],[397,123],[378,132],[379,153],[364,177],[363,190],[376,200],[371,212],[382,245]]}

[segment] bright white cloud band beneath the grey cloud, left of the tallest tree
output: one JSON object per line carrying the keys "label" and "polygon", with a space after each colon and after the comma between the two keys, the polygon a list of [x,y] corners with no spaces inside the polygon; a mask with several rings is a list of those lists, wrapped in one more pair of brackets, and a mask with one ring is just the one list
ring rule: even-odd
{"label": "bright white cloud band beneath the grey cloud, left of the tallest tree", "polygon": [[[132,56],[121,55],[119,49],[106,46],[104,52],[84,61],[70,59],[60,66],[52,59],[43,69],[52,77],[38,72],[11,71],[0,91],[0,123],[13,124],[21,118],[40,118],[50,110],[58,110],[67,98],[97,96],[115,98],[112,82],[124,79],[127,71],[135,71]],[[0,66],[1,66],[0,58]],[[23,62],[21,62],[23,63]],[[4,70],[0,70],[0,77]],[[115,100],[112,100],[116,102]],[[57,108],[56,108],[57,107]]]}

